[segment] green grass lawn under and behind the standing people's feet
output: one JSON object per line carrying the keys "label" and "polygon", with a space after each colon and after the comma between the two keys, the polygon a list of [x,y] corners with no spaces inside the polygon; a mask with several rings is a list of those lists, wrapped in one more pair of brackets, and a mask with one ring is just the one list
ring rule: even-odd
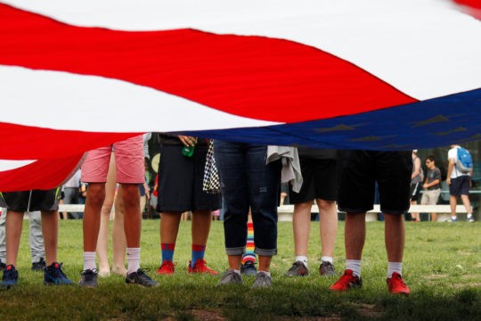
{"label": "green grass lawn under and behind the standing people's feet", "polygon": [[[82,265],[82,222],[61,221],[59,259],[75,282]],[[0,317],[9,319],[167,319],[167,320],[479,320],[481,316],[481,226],[479,223],[406,222],[404,279],[408,297],[387,293],[384,226],[367,224],[363,253],[363,289],[329,291],[344,269],[344,222],[339,222],[335,266],[338,276],[317,273],[319,228],[311,226],[311,276],[286,278],[293,261],[292,227],[279,224],[279,254],[273,259],[273,288],[244,285],[216,287],[218,276],[187,274],[191,255],[191,222],[183,222],[175,250],[174,276],[158,276],[159,220],[143,220],[142,266],[160,286],[145,289],[124,283],[120,276],[99,279],[96,289],[47,287],[43,276],[30,271],[28,221],[21,247],[19,285],[0,291]],[[222,222],[213,222],[206,259],[211,268],[227,268]]]}

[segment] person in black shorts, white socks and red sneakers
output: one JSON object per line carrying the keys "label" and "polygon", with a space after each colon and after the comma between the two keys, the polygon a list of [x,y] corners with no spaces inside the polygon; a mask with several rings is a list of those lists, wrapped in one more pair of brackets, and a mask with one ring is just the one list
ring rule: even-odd
{"label": "person in black shorts, white socks and red sneakers", "polygon": [[375,184],[379,185],[380,210],[384,213],[387,251],[387,290],[409,294],[402,277],[404,213],[410,207],[411,152],[351,151],[343,164],[338,191],[339,210],[346,212],[346,270],[331,291],[361,287],[361,264],[366,238],[366,212],[372,210]]}

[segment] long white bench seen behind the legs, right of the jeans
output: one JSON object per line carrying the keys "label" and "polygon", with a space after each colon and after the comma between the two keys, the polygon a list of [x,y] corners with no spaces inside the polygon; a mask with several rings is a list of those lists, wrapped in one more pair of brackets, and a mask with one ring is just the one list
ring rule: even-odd
{"label": "long white bench seen behind the legs, right of the jeans", "polygon": [[[294,205],[281,205],[277,208],[280,222],[292,221],[292,213],[294,212]],[[319,213],[317,205],[313,204],[311,210],[313,213]],[[451,217],[451,207],[449,204],[444,205],[411,205],[408,212],[410,213],[438,213],[437,222],[444,222]],[[466,213],[464,205],[456,205],[456,213]],[[380,213],[379,205],[374,205],[374,208],[366,213],[366,222],[373,222],[378,220],[378,213]]]}

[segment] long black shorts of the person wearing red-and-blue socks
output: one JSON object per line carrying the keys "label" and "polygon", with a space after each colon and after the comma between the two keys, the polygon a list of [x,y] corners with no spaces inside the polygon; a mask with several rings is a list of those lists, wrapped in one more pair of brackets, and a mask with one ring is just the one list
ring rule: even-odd
{"label": "long black shorts of the person wearing red-and-blue socks", "polygon": [[202,191],[207,145],[196,145],[192,157],[182,145],[160,146],[157,211],[218,210],[220,194]]}

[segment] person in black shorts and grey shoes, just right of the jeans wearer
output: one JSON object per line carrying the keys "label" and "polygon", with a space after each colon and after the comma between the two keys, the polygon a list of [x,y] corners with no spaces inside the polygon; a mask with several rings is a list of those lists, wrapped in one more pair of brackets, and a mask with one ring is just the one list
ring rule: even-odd
{"label": "person in black shorts and grey shoes, just right of the jeans wearer", "polygon": [[298,147],[303,185],[298,193],[289,185],[289,202],[294,204],[292,227],[296,260],[285,276],[308,276],[307,245],[313,202],[319,208],[321,234],[321,276],[333,276],[333,254],[338,231],[338,157],[336,150]]}

